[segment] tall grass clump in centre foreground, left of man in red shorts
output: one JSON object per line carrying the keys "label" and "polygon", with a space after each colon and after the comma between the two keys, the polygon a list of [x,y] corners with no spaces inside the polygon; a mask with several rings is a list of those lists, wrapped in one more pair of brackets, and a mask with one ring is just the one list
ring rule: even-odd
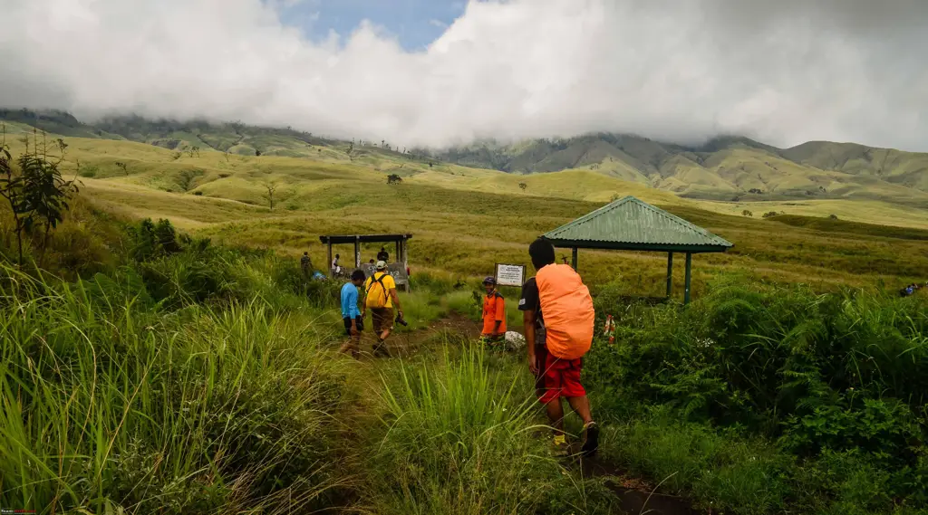
{"label": "tall grass clump in centre foreground, left of man in red shorts", "polygon": [[468,347],[384,376],[369,503],[382,514],[596,513],[608,496],[549,455],[532,386]]}

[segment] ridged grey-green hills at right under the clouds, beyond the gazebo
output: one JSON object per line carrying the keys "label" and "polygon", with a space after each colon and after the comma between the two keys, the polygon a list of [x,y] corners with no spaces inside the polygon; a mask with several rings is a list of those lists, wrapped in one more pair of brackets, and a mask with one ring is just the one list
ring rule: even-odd
{"label": "ridged grey-green hills at right under the clouds, beyond the gazebo", "polygon": [[781,150],[726,137],[687,148],[637,136],[596,134],[512,145],[471,144],[436,157],[513,173],[596,170],[702,199],[928,201],[928,154],[854,144],[810,143]]}

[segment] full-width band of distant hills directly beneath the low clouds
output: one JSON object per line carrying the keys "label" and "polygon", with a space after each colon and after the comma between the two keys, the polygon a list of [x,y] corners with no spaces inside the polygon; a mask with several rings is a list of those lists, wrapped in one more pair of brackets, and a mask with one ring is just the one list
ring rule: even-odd
{"label": "full-width band of distant hills directly beneath the low clouds", "polygon": [[[780,149],[726,136],[700,146],[667,144],[629,134],[588,134],[516,144],[482,141],[456,148],[400,150],[388,142],[343,142],[290,128],[238,122],[110,117],[93,123],[60,111],[0,109],[0,121],[71,137],[129,140],[182,152],[212,149],[227,155],[303,157],[356,162],[408,176],[439,164],[512,175],[564,170],[584,175],[584,197],[608,199],[595,179],[605,176],[685,198],[726,202],[868,200],[928,206],[928,154],[860,144],[809,142]],[[470,173],[471,177],[475,177]],[[493,188],[471,181],[474,189]],[[515,181],[518,184],[520,181]],[[562,181],[554,181],[562,182]],[[568,188],[570,189],[570,188]],[[574,188],[575,189],[575,188]],[[589,192],[592,190],[592,194]],[[592,196],[590,196],[592,195]]]}

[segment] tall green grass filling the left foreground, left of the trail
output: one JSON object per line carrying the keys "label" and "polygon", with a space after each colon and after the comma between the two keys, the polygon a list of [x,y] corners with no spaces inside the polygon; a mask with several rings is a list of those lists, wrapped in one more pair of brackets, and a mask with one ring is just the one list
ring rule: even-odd
{"label": "tall green grass filling the left foreground, left of the trail", "polygon": [[304,320],[0,270],[3,506],[290,513],[348,481],[331,458],[342,380]]}

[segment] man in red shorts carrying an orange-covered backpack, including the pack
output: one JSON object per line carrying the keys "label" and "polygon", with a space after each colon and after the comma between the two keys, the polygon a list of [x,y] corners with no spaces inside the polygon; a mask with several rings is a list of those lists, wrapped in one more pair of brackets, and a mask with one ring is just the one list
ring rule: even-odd
{"label": "man in red shorts carrying an orange-covered backpack, including the pack", "polygon": [[[539,399],[548,411],[548,420],[554,427],[555,452],[567,453],[568,446],[564,436],[564,410],[561,397],[567,397],[568,404],[584,423],[583,446],[581,452],[592,456],[599,447],[599,426],[590,414],[586,390],[580,383],[583,370],[583,356],[593,343],[593,325],[595,311],[593,298],[580,276],[570,265],[554,264],[556,257],[554,246],[550,242],[538,239],[528,247],[532,264],[535,265],[535,283],[523,286],[522,300],[525,301],[522,320],[525,322],[525,342],[528,345],[528,366],[535,377],[541,376],[544,393]],[[533,291],[537,290],[537,293]],[[537,302],[535,302],[537,295]],[[531,305],[535,306],[531,306]],[[537,307],[538,310],[530,309]],[[544,364],[539,364],[535,356],[536,342],[535,314],[545,313],[545,347],[548,355]]]}

